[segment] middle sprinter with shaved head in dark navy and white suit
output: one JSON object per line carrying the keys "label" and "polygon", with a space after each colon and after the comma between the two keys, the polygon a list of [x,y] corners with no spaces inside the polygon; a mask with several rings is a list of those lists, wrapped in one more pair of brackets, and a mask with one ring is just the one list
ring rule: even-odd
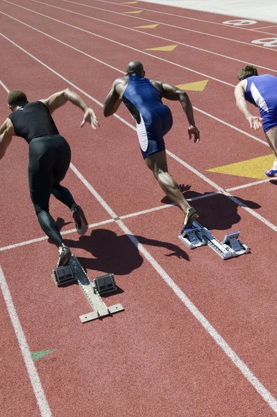
{"label": "middle sprinter with shaved head in dark navy and white suit", "polygon": [[180,101],[189,122],[190,139],[194,135],[194,142],[199,142],[199,130],[194,124],[192,104],[187,94],[173,85],[146,79],[144,75],[142,63],[129,63],[126,76],[116,79],[112,84],[103,113],[106,117],[114,114],[122,101],[130,111],[137,124],[137,136],[146,165],[166,195],[183,211],[183,234],[198,215],[167,170],[164,136],[171,129],[172,115],[170,109],[162,104],[162,97]]}

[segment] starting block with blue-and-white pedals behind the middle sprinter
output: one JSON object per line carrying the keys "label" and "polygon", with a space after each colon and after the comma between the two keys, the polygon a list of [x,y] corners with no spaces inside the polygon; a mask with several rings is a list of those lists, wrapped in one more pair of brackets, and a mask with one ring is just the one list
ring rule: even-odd
{"label": "starting block with blue-and-white pedals behind the middle sprinter", "polygon": [[183,235],[178,236],[178,238],[190,249],[208,245],[213,251],[221,256],[222,259],[229,259],[250,252],[249,247],[238,240],[239,236],[239,231],[233,231],[226,234],[222,242],[219,242],[208,229],[194,220],[194,222],[192,222],[192,227],[186,229]]}

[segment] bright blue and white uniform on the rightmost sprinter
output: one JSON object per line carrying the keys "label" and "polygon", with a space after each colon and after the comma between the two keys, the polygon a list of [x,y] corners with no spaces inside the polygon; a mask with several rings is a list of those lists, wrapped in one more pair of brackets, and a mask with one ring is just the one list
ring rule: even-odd
{"label": "bright blue and white uniform on the rightmost sprinter", "polygon": [[277,126],[277,76],[264,74],[249,76],[245,99],[260,109],[264,131]]}

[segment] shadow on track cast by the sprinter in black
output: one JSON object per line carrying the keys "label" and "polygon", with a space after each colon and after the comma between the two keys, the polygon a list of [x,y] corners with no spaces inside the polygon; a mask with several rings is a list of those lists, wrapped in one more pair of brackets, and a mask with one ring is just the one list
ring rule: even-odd
{"label": "shadow on track cast by the sprinter in black", "polygon": [[[142,245],[163,247],[170,252],[165,256],[177,256],[189,261],[187,253],[177,245],[160,240],[144,238],[144,236],[131,236]],[[117,236],[114,231],[108,229],[92,229],[88,234],[81,236],[79,240],[71,240],[65,237],[65,245],[71,250],[74,247],[84,249],[93,258],[78,256],[83,268],[86,270],[98,270],[105,273],[112,272],[115,275],[128,275],[133,270],[140,268],[144,259],[137,246],[131,241],[128,235]]]}

